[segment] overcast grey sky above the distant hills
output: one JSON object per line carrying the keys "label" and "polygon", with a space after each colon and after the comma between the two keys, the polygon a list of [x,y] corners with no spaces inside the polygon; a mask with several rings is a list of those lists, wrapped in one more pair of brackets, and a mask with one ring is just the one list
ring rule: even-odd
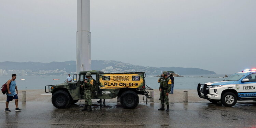
{"label": "overcast grey sky above the distant hills", "polygon": [[[255,68],[255,0],[91,0],[91,59]],[[76,0],[0,0],[0,62],[76,60]]]}

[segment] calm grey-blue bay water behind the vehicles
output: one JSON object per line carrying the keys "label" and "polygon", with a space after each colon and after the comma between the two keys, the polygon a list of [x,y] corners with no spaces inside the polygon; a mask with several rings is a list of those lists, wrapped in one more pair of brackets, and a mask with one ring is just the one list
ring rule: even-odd
{"label": "calm grey-blue bay water behind the vehicles", "polygon": [[[221,81],[225,78],[219,78],[225,75],[183,75],[184,77],[174,77],[174,89],[197,89],[197,84],[207,83],[212,81]],[[203,76],[203,77],[199,77]],[[228,75],[229,76],[229,75]],[[158,89],[159,83],[157,83],[159,77],[155,77],[154,75],[146,75],[145,82],[146,85],[153,88]],[[3,85],[6,81],[11,79],[11,76],[0,75],[0,84]],[[20,80],[25,79],[25,80]],[[59,80],[53,80],[59,79]],[[53,85],[64,83],[67,79],[67,76],[59,76],[59,75],[50,75],[50,76],[17,76],[16,83],[18,90],[26,90],[26,89],[44,89],[45,85]]]}

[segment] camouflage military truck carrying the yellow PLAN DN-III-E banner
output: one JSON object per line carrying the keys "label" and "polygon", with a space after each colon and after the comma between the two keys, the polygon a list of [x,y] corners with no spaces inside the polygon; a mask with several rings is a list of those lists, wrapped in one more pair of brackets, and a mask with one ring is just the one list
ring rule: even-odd
{"label": "camouflage military truck carrying the yellow PLAN DN-III-E banner", "polygon": [[[81,87],[86,79],[85,74],[90,72],[96,81],[92,89],[91,99],[117,100],[124,108],[134,109],[139,104],[139,95],[151,98],[146,88],[144,72],[104,73],[102,71],[81,71],[73,75],[73,81],[57,85],[45,86],[45,93],[52,93],[52,103],[56,108],[67,108],[80,99],[84,99],[84,90]],[[46,91],[47,90],[47,91]],[[153,89],[151,89],[153,90]],[[144,97],[143,97],[144,100]],[[146,102],[147,103],[147,102]]]}

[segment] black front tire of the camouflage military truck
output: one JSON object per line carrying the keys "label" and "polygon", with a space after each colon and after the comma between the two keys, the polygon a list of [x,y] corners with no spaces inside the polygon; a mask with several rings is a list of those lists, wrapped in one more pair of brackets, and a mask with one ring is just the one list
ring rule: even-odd
{"label": "black front tire of the camouflage military truck", "polygon": [[70,97],[66,91],[58,90],[52,96],[52,103],[58,109],[64,109],[69,105]]}

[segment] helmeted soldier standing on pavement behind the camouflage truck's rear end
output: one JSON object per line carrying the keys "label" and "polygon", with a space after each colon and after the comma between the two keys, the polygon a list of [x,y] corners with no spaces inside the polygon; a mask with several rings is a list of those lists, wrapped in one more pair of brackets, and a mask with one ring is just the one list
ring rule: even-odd
{"label": "helmeted soldier standing on pavement behind the camouflage truck's rear end", "polygon": [[[162,78],[162,79],[161,79]],[[160,99],[161,99],[161,104],[162,107],[158,110],[165,110],[165,103],[167,105],[166,111],[169,112],[169,92],[171,90],[171,84],[172,80],[168,77],[168,72],[163,71],[162,77],[159,78],[159,83],[160,83]]]}

